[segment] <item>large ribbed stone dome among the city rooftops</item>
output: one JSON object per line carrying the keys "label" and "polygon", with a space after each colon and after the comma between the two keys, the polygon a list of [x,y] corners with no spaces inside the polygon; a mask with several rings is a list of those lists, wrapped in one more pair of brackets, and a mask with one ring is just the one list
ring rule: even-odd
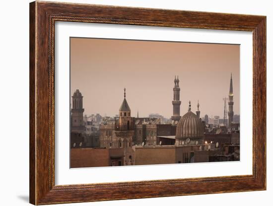
{"label": "large ribbed stone dome among the city rooftops", "polygon": [[176,138],[202,138],[203,136],[202,121],[193,112],[187,112],[177,124]]}

